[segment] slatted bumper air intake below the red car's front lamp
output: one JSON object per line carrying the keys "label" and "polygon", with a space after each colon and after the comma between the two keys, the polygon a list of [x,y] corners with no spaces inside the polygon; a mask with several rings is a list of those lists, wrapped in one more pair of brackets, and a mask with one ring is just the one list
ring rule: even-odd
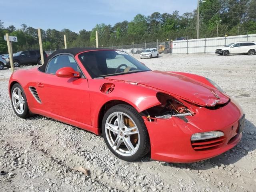
{"label": "slatted bumper air intake below the red car's front lamp", "polygon": [[224,144],[224,136],[206,140],[191,141],[192,148],[196,151],[211,150]]}

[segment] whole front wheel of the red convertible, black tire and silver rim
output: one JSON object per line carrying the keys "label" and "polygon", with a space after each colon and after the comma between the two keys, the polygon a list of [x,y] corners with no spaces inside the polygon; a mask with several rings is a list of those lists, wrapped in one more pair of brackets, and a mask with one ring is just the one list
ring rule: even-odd
{"label": "whole front wheel of the red convertible, black tire and silver rim", "polygon": [[136,161],[150,150],[148,131],[142,117],[126,104],[113,106],[105,113],[102,135],[110,151],[125,161]]}

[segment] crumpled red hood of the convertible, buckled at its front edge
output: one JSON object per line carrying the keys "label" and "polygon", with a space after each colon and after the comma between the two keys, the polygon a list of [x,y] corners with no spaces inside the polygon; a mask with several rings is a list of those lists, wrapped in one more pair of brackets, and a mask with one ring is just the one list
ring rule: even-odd
{"label": "crumpled red hood of the convertible, buckled at its front edge", "polygon": [[172,72],[147,71],[118,76],[105,77],[106,79],[129,81],[141,86],[149,86],[193,102],[200,106],[215,106],[224,104],[230,99],[216,88],[208,86],[193,78]]}

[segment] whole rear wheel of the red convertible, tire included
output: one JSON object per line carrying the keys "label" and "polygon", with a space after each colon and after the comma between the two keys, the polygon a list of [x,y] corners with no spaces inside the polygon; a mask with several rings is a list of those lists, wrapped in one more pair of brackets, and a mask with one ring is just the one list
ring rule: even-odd
{"label": "whole rear wheel of the red convertible, tire included", "polygon": [[12,108],[17,116],[23,119],[29,117],[27,98],[22,86],[18,83],[12,86],[11,102]]}

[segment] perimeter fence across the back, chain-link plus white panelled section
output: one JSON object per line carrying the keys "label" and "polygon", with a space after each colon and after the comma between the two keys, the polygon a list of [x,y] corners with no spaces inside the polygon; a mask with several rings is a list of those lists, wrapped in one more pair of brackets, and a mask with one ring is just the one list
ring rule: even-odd
{"label": "perimeter fence across the back, chain-link plus white panelled section", "polygon": [[[165,42],[150,42],[131,45],[112,45],[103,48],[122,50],[129,54],[140,54],[146,48],[157,48],[159,54],[213,54],[220,46],[230,43],[254,41],[256,34],[224,36],[215,38],[170,40]],[[46,54],[52,54],[55,50],[46,50]]]}

